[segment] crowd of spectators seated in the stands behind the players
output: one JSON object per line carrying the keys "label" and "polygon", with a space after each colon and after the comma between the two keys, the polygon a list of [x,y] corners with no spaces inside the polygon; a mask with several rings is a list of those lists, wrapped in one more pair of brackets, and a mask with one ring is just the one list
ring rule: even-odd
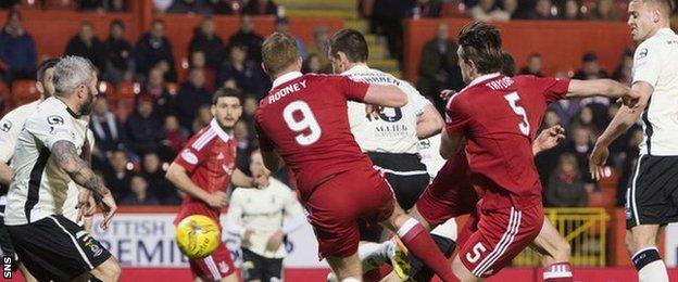
{"label": "crowd of spectators seated in the stands behind the players", "polygon": [[[3,1],[3,4],[12,1]],[[18,2],[18,1],[14,1]],[[42,1],[36,1],[38,4]],[[361,14],[374,20],[373,28],[377,33],[391,35],[389,16],[444,16],[442,7],[454,1],[398,1],[381,9],[387,1],[361,1]],[[519,2],[519,3],[518,3]],[[135,90],[134,108],[123,111],[120,105],[111,104],[103,95],[96,101],[91,116],[91,129],[96,137],[96,151],[92,166],[102,176],[115,197],[123,205],[176,205],[180,203],[177,190],[164,178],[164,172],[183,148],[188,138],[212,119],[210,113],[211,95],[221,87],[240,89],[244,97],[243,115],[235,127],[238,140],[238,166],[249,171],[250,153],[258,148],[253,129],[253,114],[259,100],[269,88],[269,80],[262,72],[260,48],[263,36],[253,31],[250,14],[277,14],[277,5],[269,0],[210,1],[210,0],[154,0],[158,11],[167,13],[242,13],[240,27],[230,38],[221,38],[218,28],[210,16],[205,16],[194,28],[189,46],[173,46],[165,36],[165,25],[154,21],[150,30],[138,39],[125,38],[125,24],[114,21],[110,26],[110,37],[100,38],[90,23],[81,23],[79,31],[68,41],[64,55],[73,54],[89,59],[99,69],[100,78],[112,85],[121,81],[138,84]],[[529,3],[529,4],[528,4]],[[122,11],[125,1],[79,1],[81,10]],[[372,4],[372,8],[365,5]],[[530,20],[597,20],[618,21],[616,2],[598,0],[587,10],[579,1],[464,1],[464,13],[476,20],[508,21],[511,18]],[[528,5],[525,5],[528,4]],[[4,8],[12,7],[11,4]],[[438,8],[437,8],[438,7]],[[456,5],[459,8],[459,5]],[[591,5],[588,5],[591,7]],[[230,9],[230,10],[229,10]],[[398,10],[398,11],[391,11]],[[374,13],[372,12],[374,11]],[[588,11],[588,12],[587,12]],[[382,13],[393,14],[382,14]],[[276,21],[276,30],[288,30],[287,18]],[[398,27],[395,27],[398,28]],[[399,27],[399,28],[402,28]],[[395,34],[400,30],[395,30]],[[417,89],[442,110],[444,101],[439,98],[442,89],[463,88],[461,74],[456,65],[456,43],[449,38],[447,26],[438,28],[436,38],[426,43],[422,53]],[[329,39],[326,27],[317,27],[314,41],[298,46],[304,60],[304,72],[330,73],[327,59]],[[392,40],[389,40],[391,42]],[[395,40],[397,41],[397,40]],[[391,42],[398,44],[398,42]],[[177,64],[181,59],[173,56],[173,48],[186,48],[189,57],[186,63]],[[398,57],[398,47],[390,48]],[[526,61],[516,57],[518,74],[543,76],[541,57],[533,53]],[[581,67],[577,72],[562,69],[554,76],[575,77],[578,79],[613,78],[629,84],[632,63],[632,50],[620,53],[622,64],[616,69],[603,69],[597,54],[582,54]],[[12,10],[0,33],[0,77],[8,85],[16,79],[34,79],[38,63],[36,47],[29,30],[24,29],[18,10]],[[183,78],[176,67],[184,67]],[[102,87],[108,84],[102,84]],[[1,112],[9,111],[2,101]],[[560,101],[550,106],[544,118],[544,127],[556,124],[567,129],[567,139],[556,149],[537,156],[541,180],[544,183],[544,203],[547,206],[572,207],[587,206],[588,194],[599,189],[588,174],[588,155],[593,141],[618,110],[615,101],[605,99],[586,99]],[[611,146],[611,166],[618,171],[617,204],[624,202],[627,179],[637,161],[637,145],[642,141],[640,127],[630,130]],[[289,176],[282,174],[278,179],[293,187]]]}

